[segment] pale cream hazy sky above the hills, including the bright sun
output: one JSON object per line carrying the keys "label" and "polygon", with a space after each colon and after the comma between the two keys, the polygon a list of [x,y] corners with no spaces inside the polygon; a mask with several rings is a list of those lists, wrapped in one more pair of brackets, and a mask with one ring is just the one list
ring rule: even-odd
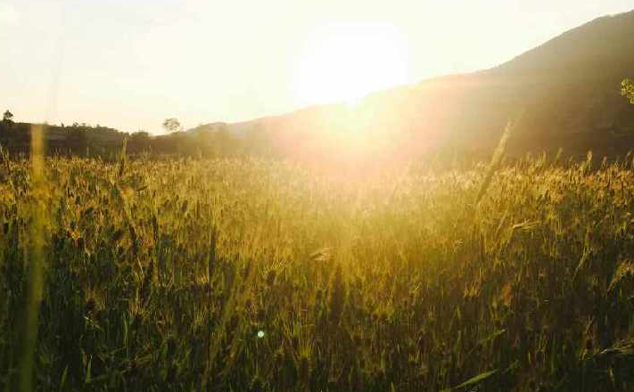
{"label": "pale cream hazy sky above the hills, including the bright sun", "polygon": [[[160,133],[489,68],[631,0],[0,0],[0,110]],[[366,64],[367,66],[364,66]]]}

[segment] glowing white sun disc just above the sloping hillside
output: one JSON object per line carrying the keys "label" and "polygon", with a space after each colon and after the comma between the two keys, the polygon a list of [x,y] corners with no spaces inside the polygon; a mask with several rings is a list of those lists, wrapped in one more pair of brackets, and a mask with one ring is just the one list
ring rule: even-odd
{"label": "glowing white sun disc just above the sloping hillside", "polygon": [[408,82],[407,41],[392,25],[328,24],[306,40],[297,67],[301,104],[356,102]]}

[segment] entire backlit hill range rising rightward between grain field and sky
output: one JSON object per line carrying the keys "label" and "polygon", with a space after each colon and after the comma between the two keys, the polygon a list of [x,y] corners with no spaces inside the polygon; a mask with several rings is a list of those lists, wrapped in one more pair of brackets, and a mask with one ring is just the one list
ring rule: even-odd
{"label": "entire backlit hill range rising rightward between grain field and sky", "polygon": [[[48,151],[116,154],[248,153],[387,164],[425,153],[486,156],[523,113],[507,152],[613,157],[634,148],[634,105],[621,96],[634,78],[634,11],[592,20],[492,69],[431,78],[367,95],[355,105],[314,105],[279,116],[152,137],[107,127],[47,127]],[[29,151],[28,123],[0,123],[0,143]]]}

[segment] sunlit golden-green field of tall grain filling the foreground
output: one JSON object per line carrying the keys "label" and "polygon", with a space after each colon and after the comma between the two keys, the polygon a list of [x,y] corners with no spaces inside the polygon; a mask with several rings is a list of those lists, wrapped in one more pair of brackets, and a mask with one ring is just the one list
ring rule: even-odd
{"label": "sunlit golden-green field of tall grain filling the foreground", "polygon": [[631,157],[0,163],[6,391],[634,390]]}

